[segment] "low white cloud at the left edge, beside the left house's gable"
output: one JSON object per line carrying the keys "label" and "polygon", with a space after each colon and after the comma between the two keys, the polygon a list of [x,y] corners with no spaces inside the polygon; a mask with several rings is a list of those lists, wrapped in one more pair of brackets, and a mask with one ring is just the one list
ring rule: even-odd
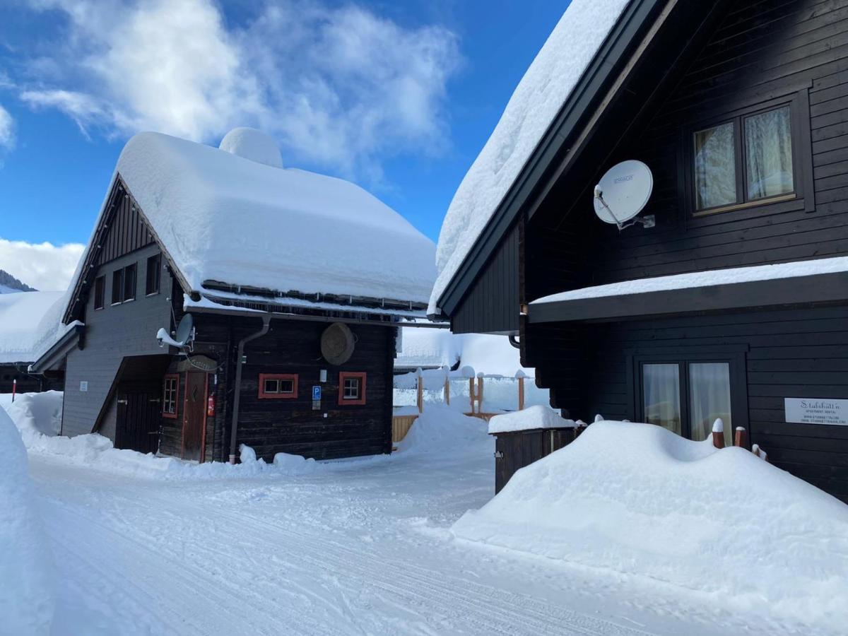
{"label": "low white cloud at the left edge, beside the left house's gable", "polygon": [[0,238],[0,270],[42,292],[64,291],[74,276],[80,243],[26,243]]}

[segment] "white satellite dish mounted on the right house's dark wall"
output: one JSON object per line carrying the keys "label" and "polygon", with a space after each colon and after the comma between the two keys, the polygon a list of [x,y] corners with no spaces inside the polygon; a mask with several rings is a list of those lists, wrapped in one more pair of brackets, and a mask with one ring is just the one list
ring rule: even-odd
{"label": "white satellite dish mounted on the right house's dark wall", "polygon": [[[594,187],[594,214],[605,223],[618,226],[619,230],[633,223],[653,227],[653,217],[636,218],[648,203],[653,189],[654,176],[647,165],[636,159],[622,161],[607,170]],[[633,222],[627,224],[628,220]]]}

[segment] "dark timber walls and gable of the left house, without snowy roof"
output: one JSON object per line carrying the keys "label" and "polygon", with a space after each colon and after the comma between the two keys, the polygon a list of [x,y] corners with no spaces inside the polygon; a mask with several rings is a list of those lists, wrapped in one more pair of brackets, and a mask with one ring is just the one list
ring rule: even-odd
{"label": "dark timber walls and gable of the left house, without snowy roof", "polygon": [[[160,346],[159,328],[176,333],[190,293],[120,176],[81,272],[64,323],[85,326],[36,363],[65,371],[62,434],[98,432],[117,448],[198,461],[226,461],[240,444],[267,461],[391,452],[398,321],[388,312],[300,303],[296,313],[271,295],[257,304],[261,290],[251,290],[249,303],[192,308],[191,349]],[[334,323],[355,343],[337,364],[321,348]]]}

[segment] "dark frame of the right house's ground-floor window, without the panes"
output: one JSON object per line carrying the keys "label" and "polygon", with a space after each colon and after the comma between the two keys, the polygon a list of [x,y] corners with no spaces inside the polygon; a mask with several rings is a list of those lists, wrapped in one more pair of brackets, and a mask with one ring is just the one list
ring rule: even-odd
{"label": "dark frame of the right house's ground-floor window, without the panes", "polygon": [[692,423],[689,413],[689,364],[693,362],[726,362],[730,371],[730,411],[734,416],[733,426],[749,428],[748,376],[745,364],[748,345],[717,346],[709,350],[668,350],[662,353],[636,352],[628,354],[628,402],[630,419],[643,421],[644,384],[643,365],[678,365],[680,386],[680,431],[686,439],[692,438]]}

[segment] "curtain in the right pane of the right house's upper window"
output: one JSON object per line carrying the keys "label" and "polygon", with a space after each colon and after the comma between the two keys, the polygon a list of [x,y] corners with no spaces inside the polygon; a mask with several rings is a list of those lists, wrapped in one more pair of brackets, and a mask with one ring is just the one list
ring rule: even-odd
{"label": "curtain in the right pane of the right house's upper window", "polygon": [[795,190],[789,106],[745,119],[745,164],[749,199]]}

